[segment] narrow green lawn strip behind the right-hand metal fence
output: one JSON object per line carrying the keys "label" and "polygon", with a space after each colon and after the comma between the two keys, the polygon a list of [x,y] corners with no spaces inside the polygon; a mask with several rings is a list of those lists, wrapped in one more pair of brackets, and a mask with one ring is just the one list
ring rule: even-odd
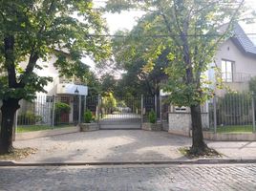
{"label": "narrow green lawn strip behind the right-hand metal fence", "polygon": [[217,133],[251,133],[253,132],[252,125],[226,125],[218,126]]}

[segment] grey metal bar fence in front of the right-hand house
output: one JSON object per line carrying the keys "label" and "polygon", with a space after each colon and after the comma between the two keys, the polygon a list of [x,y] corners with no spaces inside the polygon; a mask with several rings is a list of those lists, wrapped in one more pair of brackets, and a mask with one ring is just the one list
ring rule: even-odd
{"label": "grey metal bar fence in front of the right-hand house", "polygon": [[255,96],[226,94],[209,101],[209,127],[216,133],[255,131]]}

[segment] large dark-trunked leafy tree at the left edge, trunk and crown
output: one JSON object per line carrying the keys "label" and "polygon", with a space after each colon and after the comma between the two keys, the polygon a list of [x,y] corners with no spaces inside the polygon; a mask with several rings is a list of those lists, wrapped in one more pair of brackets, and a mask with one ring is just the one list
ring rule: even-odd
{"label": "large dark-trunked leafy tree at the left edge, trunk and crown", "polygon": [[47,61],[54,55],[60,74],[84,76],[88,67],[80,61],[83,55],[97,61],[109,54],[108,43],[100,35],[104,31],[92,1],[0,1],[1,153],[12,149],[12,124],[19,100],[31,100],[35,92],[44,92],[51,80],[34,73],[34,69],[42,69],[38,60]]}

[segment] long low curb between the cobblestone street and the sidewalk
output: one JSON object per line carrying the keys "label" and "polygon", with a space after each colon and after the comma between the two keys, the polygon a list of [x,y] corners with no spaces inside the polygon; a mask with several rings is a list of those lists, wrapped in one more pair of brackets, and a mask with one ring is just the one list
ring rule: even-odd
{"label": "long low curb between the cobblestone street and the sidewalk", "polygon": [[256,163],[256,159],[195,159],[195,160],[169,160],[169,161],[102,161],[102,162],[15,162],[0,161],[0,166],[107,166],[107,165],[158,165],[158,164],[243,164]]}

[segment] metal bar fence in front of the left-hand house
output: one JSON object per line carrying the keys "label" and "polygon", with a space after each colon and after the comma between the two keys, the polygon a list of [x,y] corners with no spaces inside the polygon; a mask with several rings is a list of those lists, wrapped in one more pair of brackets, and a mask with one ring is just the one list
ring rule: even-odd
{"label": "metal bar fence in front of the left-hand house", "polygon": [[[32,101],[21,100],[14,125],[18,132],[75,126],[84,122],[84,112],[96,115],[97,96],[36,96]],[[0,101],[1,106],[1,101]],[[1,122],[0,112],[0,122]]]}

